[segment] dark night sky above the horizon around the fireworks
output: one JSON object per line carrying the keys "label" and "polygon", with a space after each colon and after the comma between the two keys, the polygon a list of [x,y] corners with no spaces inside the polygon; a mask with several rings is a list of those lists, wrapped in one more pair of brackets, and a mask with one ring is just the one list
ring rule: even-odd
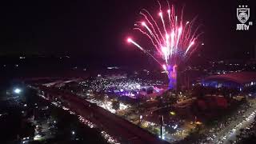
{"label": "dark night sky above the horizon around the fireworks", "polygon": [[[165,3],[166,1],[161,1]],[[198,16],[204,32],[195,55],[206,59],[248,58],[256,44],[254,0],[174,0],[185,6],[184,18]],[[236,31],[238,4],[250,6],[249,31]],[[158,13],[154,0],[6,1],[0,3],[0,55],[70,54],[86,58],[139,58],[126,43],[139,21],[139,10]],[[143,45],[143,43],[142,43]]]}

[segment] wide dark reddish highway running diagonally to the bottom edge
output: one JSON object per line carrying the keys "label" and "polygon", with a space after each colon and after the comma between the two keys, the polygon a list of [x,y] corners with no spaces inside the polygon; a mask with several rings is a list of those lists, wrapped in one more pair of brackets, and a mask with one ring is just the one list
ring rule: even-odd
{"label": "wide dark reddish highway running diagonally to the bottom edge", "polygon": [[62,90],[46,86],[40,86],[39,89],[44,91],[45,96],[49,98],[49,100],[60,98],[66,103],[66,106],[69,107],[70,110],[82,115],[82,117],[88,118],[97,126],[102,127],[103,130],[106,130],[110,135],[114,136],[114,138],[117,138],[119,142],[135,144],[168,143],[166,141],[162,141],[147,130],[143,130],[133,123],[128,122],[123,118],[119,118],[115,114],[111,114],[102,107],[95,106],[75,94],[64,93]]}

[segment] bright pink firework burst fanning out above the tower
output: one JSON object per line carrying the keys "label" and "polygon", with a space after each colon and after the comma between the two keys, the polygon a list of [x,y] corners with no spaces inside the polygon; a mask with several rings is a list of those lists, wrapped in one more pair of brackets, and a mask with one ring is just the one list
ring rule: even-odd
{"label": "bright pink firework burst fanning out above the tower", "polygon": [[140,14],[144,21],[136,22],[134,25],[134,30],[138,30],[146,38],[150,39],[155,50],[157,50],[158,54],[156,55],[158,57],[154,57],[154,54],[150,54],[148,50],[142,48],[132,38],[128,38],[127,42],[134,44],[139,50],[149,54],[166,70],[166,66],[178,64],[179,61],[185,60],[194,52],[198,47],[198,37],[202,33],[198,34],[199,26],[195,30],[192,29],[195,18],[191,22],[183,22],[182,16],[178,17],[174,6],[170,6],[169,2],[167,2],[167,10],[162,10],[160,2],[158,3],[160,10],[158,14],[155,14],[158,18],[154,18],[150,12],[143,9]]}

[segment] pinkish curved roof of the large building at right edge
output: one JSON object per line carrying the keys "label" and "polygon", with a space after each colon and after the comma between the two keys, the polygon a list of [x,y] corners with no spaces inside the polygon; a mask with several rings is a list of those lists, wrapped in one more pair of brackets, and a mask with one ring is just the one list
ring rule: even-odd
{"label": "pinkish curved roof of the large building at right edge", "polygon": [[256,72],[238,72],[231,74],[218,74],[206,77],[205,81],[220,80],[236,82],[238,84],[246,84],[250,82],[256,82]]}

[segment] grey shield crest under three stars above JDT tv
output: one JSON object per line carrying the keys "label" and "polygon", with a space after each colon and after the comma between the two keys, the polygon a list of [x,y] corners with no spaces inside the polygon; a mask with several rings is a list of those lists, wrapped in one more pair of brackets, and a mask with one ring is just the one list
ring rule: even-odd
{"label": "grey shield crest under three stars above JDT tv", "polygon": [[248,19],[250,18],[250,8],[247,8],[247,6],[239,6],[237,8],[237,17],[239,22],[246,23]]}

